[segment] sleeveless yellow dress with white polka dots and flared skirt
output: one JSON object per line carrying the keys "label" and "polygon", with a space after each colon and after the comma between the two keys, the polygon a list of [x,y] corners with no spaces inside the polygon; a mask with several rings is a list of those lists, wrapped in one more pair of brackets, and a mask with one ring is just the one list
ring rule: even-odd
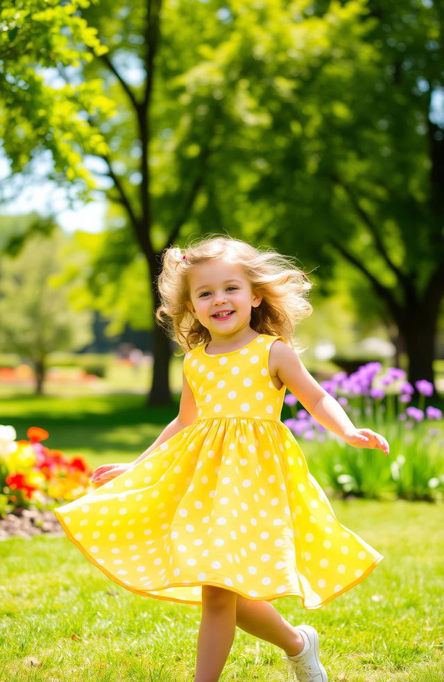
{"label": "sleeveless yellow dress with white polka dots and flared skirt", "polygon": [[259,334],[229,353],[187,353],[198,417],[125,473],[54,510],[67,536],[137,594],[202,603],[202,585],[318,609],[383,558],[334,516],[280,421]]}

